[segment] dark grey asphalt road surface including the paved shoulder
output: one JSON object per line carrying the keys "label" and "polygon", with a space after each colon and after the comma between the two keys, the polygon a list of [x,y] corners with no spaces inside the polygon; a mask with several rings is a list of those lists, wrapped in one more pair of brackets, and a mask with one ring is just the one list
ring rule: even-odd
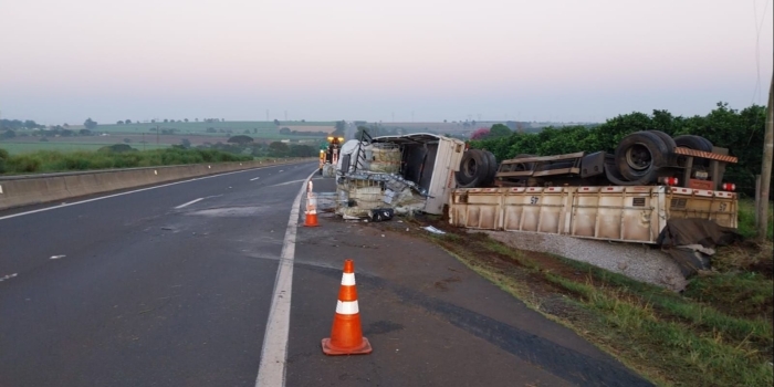
{"label": "dark grey asphalt road surface including the paved shoulder", "polygon": [[[421,230],[296,229],[315,169],[0,211],[0,386],[649,385]],[[347,258],[374,352],[330,357]]]}

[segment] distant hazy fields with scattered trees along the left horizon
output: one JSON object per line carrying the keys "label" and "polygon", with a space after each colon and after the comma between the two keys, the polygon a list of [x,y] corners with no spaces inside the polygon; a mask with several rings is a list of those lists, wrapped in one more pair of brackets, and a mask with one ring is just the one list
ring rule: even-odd
{"label": "distant hazy fields with scattered trees along the left horizon", "polygon": [[[227,122],[222,118],[164,118],[149,123],[122,119],[83,124],[40,125],[34,121],[0,119],[0,148],[10,155],[36,150],[97,150],[116,143],[138,150],[182,146],[254,157],[310,157],[332,134],[344,135],[344,122]],[[233,138],[248,138],[234,143]]]}

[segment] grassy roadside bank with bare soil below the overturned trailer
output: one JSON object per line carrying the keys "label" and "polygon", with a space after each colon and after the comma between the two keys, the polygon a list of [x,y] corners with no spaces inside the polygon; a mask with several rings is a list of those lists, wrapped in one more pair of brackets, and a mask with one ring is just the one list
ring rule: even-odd
{"label": "grassy roadside bank with bare soil below the overturned trailer", "polygon": [[[750,200],[743,202],[740,223],[746,224],[754,215]],[[771,213],[766,241],[719,248],[712,270],[690,279],[681,293],[583,262],[519,251],[440,219],[425,221],[447,233],[423,238],[657,385],[774,384]],[[745,227],[740,226],[742,233]]]}

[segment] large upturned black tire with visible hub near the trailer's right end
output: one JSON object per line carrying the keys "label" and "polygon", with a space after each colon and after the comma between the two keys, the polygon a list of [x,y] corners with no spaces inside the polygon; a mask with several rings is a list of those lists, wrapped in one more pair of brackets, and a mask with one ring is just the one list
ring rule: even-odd
{"label": "large upturned black tire with visible hub near the trailer's right end", "polygon": [[636,132],[626,137],[616,148],[616,166],[629,181],[656,180],[658,169],[669,165],[673,148],[651,132]]}

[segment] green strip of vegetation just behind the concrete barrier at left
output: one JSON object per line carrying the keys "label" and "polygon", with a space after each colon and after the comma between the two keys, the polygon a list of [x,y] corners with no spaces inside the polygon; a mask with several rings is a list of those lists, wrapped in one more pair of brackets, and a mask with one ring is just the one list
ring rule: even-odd
{"label": "green strip of vegetation just behind the concrete barrier at left", "polygon": [[185,149],[181,147],[139,151],[124,144],[103,147],[96,151],[39,150],[9,155],[4,149],[0,149],[0,174],[57,172],[197,163],[249,161],[252,159],[252,156],[234,155],[222,150]]}

